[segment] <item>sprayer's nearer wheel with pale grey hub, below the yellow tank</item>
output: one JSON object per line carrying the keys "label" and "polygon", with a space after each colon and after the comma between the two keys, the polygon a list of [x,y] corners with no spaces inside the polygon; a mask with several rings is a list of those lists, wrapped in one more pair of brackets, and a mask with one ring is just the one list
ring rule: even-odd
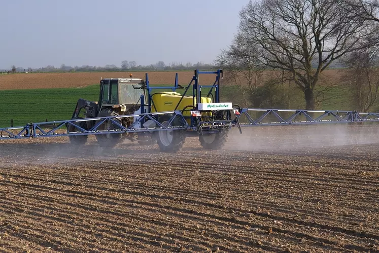
{"label": "sprayer's nearer wheel with pale grey hub, below the yellow tank", "polygon": [[[164,126],[168,126],[168,121],[163,121]],[[181,130],[157,131],[156,139],[161,152],[176,153],[180,151],[186,141],[186,136]]]}

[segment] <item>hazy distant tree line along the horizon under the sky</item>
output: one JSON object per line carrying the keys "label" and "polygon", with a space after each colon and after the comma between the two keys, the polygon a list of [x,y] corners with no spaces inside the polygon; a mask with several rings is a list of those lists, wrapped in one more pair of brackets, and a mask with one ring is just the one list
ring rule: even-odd
{"label": "hazy distant tree line along the horizon under the sky", "polygon": [[192,64],[191,62],[170,62],[165,64],[163,61],[158,61],[156,64],[141,65],[135,61],[122,61],[121,66],[114,64],[107,64],[105,66],[66,66],[62,64],[60,67],[48,65],[41,68],[22,68],[12,66],[11,69],[0,70],[0,72],[85,72],[85,71],[159,71],[159,70],[192,70],[192,69],[214,69],[217,68],[214,64],[206,64],[204,62],[197,62]]}

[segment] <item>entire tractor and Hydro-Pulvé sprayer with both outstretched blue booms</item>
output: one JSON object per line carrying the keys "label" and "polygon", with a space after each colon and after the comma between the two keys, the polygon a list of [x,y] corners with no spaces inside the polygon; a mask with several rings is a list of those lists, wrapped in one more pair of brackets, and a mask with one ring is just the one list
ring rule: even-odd
{"label": "entire tractor and Hydro-Pulv\u00e9 sprayer with both outstretched blue booms", "polygon": [[[215,75],[215,81],[201,85],[204,74]],[[126,138],[140,144],[157,143],[163,152],[177,152],[186,137],[198,137],[205,149],[220,149],[233,127],[242,134],[245,126],[379,121],[379,113],[240,108],[220,102],[222,78],[219,69],[195,70],[187,87],[179,85],[178,74],[169,87],[151,86],[147,73],[145,80],[132,75],[101,79],[98,101],[79,99],[72,119],[3,128],[0,139],[68,136],[74,145],[84,145],[89,135],[95,135],[105,148]]]}

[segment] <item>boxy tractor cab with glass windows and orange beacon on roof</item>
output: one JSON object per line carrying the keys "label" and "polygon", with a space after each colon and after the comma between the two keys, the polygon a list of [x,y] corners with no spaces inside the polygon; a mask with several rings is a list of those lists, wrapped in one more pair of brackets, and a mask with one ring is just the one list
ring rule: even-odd
{"label": "boxy tractor cab with glass windows and orange beacon on roof", "polygon": [[146,103],[145,89],[142,89],[144,85],[145,81],[140,78],[102,79],[98,110],[111,107],[120,112],[128,111],[128,108],[141,104],[141,95],[144,95]]}

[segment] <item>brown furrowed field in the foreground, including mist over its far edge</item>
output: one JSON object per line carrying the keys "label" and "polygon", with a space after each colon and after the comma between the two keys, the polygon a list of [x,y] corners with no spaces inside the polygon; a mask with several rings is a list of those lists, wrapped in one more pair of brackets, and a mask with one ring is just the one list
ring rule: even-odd
{"label": "brown furrowed field in the foreground, including mist over its far edge", "polygon": [[0,142],[0,251],[379,251],[377,126],[234,132],[176,154]]}

